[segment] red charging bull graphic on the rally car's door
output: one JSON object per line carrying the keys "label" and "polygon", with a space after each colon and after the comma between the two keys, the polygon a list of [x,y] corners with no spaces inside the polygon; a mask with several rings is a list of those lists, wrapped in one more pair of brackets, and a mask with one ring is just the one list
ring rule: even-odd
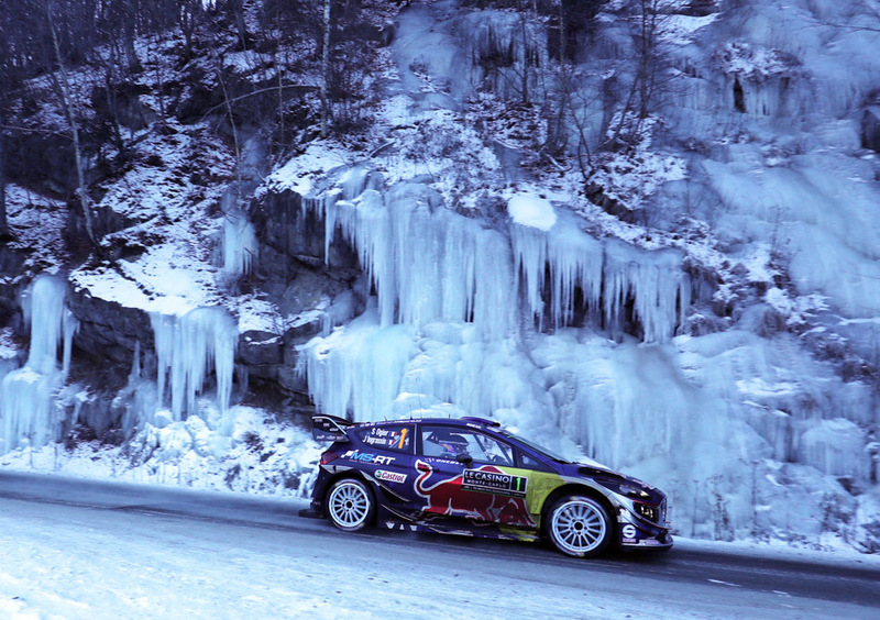
{"label": "red charging bull graphic on the rally car's door", "polygon": [[[425,512],[464,517],[502,525],[537,527],[529,516],[526,499],[522,497],[505,497],[495,492],[463,489],[464,473],[452,478],[437,479],[441,474],[435,475],[433,467],[421,460],[416,461],[416,470],[418,472],[415,481],[416,492],[425,499],[421,509]],[[476,470],[504,474],[493,465],[481,465]]]}

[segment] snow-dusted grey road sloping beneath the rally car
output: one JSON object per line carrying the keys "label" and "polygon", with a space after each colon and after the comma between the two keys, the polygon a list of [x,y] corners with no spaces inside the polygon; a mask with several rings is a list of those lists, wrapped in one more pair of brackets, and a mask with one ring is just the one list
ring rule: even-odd
{"label": "snow-dusted grey road sloping beneath the rally car", "polygon": [[0,618],[878,618],[880,563],[537,545],[301,519],[302,501],[0,473]]}

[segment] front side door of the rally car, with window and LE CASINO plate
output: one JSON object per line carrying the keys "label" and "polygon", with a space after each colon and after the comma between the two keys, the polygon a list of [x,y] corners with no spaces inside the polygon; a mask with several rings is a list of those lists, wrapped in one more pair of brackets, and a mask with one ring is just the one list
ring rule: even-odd
{"label": "front side door of the rally car, with window and LE CASINO plate", "polygon": [[514,449],[475,429],[420,424],[414,491],[421,510],[446,517],[535,527],[526,505],[528,476]]}

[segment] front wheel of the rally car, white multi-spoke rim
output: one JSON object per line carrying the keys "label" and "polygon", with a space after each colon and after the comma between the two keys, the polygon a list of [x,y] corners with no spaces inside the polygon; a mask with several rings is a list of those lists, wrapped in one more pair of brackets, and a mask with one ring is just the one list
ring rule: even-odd
{"label": "front wheel of the rally car, white multi-spoke rim", "polygon": [[584,496],[558,500],[548,512],[547,535],[572,557],[595,557],[610,544],[614,525],[598,501]]}

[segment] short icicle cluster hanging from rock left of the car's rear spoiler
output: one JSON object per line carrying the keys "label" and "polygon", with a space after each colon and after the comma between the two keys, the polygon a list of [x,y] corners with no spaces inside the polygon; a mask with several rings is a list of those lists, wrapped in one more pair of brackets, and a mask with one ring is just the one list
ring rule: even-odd
{"label": "short icicle cluster hanging from rock left of the car's rear spoiler", "polygon": [[222,308],[196,308],[183,317],[151,314],[156,342],[160,400],[170,391],[174,420],[197,410],[211,368],[217,377],[220,411],[229,409],[239,326]]}

